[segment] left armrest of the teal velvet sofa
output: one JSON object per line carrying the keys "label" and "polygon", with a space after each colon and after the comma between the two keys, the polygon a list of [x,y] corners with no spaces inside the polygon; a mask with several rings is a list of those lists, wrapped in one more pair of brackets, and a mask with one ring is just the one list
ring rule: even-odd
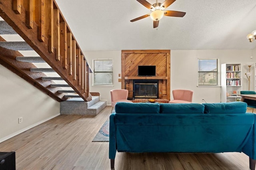
{"label": "left armrest of the teal velvet sofa", "polygon": [[109,153],[110,159],[115,159],[116,157],[116,123],[115,123],[116,113],[112,113],[109,117]]}

